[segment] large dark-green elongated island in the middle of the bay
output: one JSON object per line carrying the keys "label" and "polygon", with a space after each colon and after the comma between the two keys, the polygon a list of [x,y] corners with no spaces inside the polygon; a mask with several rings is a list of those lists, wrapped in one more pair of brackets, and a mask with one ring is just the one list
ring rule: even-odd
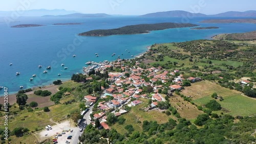
{"label": "large dark-green elongated island in the middle of the bay", "polygon": [[140,24],[125,26],[117,29],[109,30],[92,30],[84,33],[78,34],[79,36],[110,36],[110,35],[127,35],[127,34],[145,34],[150,33],[150,31],[158,31],[172,28],[185,28],[185,27],[196,27],[191,23],[155,23],[155,24]]}

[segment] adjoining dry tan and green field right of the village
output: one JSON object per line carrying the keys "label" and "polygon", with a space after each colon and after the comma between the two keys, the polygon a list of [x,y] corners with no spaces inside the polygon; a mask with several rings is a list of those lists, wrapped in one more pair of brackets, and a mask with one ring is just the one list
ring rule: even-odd
{"label": "adjoining dry tan and green field right of the village", "polygon": [[239,91],[223,88],[210,81],[194,83],[182,91],[186,96],[191,95],[193,102],[197,105],[204,105],[213,100],[210,95],[214,92],[224,98],[224,101],[221,102],[217,100],[227,110],[223,112],[233,116],[249,116],[256,113],[256,99],[248,98],[241,95]]}

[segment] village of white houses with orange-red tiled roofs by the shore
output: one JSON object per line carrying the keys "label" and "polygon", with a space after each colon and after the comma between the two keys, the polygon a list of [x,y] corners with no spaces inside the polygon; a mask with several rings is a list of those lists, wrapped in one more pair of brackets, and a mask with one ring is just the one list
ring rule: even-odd
{"label": "village of white houses with orange-red tiled roofs by the shore", "polygon": [[[106,112],[112,112],[118,117],[127,112],[127,107],[131,108],[143,103],[142,101],[138,100],[139,98],[148,99],[148,101],[151,101],[148,102],[150,105],[147,108],[144,108],[145,111],[153,109],[161,111],[161,109],[159,109],[157,106],[159,102],[165,102],[166,95],[168,98],[168,96],[173,95],[173,92],[182,90],[183,81],[194,83],[202,80],[199,77],[189,77],[185,79],[178,69],[168,71],[164,70],[161,66],[144,69],[140,67],[141,63],[139,61],[136,61],[134,66],[128,67],[124,64],[124,62],[132,61],[118,59],[113,62],[104,61],[103,63],[93,63],[94,65],[92,66],[83,67],[86,74],[89,74],[89,70],[92,67],[99,71],[105,71],[109,68],[113,69],[113,67],[120,67],[120,69],[124,71],[123,73],[110,73],[108,81],[111,84],[109,87],[104,88],[101,86],[102,94],[100,99],[110,97],[111,99],[108,99],[109,101],[97,102],[99,98],[95,97],[94,94],[84,96],[87,107],[95,104],[97,105],[97,112],[93,112],[94,114],[91,112],[91,116],[89,118],[90,121],[99,119],[100,125],[102,126],[101,128],[106,130],[111,129],[106,123]],[[129,73],[127,73],[128,71]],[[126,74],[129,74],[129,76]],[[149,81],[146,81],[144,77],[146,77]],[[87,80],[92,79],[92,77],[87,78]],[[172,83],[172,85],[166,86],[165,83],[167,81]],[[146,87],[148,92],[143,92],[142,87]],[[160,92],[162,89],[165,92]],[[87,110],[82,111],[81,115],[84,115],[86,112]],[[79,122],[80,119],[78,120],[78,123]],[[95,126],[94,122],[91,124]]]}

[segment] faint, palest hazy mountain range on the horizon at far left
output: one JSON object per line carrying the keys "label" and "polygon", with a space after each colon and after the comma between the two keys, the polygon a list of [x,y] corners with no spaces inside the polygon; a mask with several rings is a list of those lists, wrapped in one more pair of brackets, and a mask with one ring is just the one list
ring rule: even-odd
{"label": "faint, palest hazy mountain range on the horizon at far left", "polygon": [[27,10],[27,11],[0,11],[0,16],[12,16],[12,14],[20,14],[20,16],[43,16],[43,15],[66,15],[77,13],[77,11],[66,11],[64,9],[55,9],[55,10],[46,10],[46,9],[38,9],[38,10]]}

